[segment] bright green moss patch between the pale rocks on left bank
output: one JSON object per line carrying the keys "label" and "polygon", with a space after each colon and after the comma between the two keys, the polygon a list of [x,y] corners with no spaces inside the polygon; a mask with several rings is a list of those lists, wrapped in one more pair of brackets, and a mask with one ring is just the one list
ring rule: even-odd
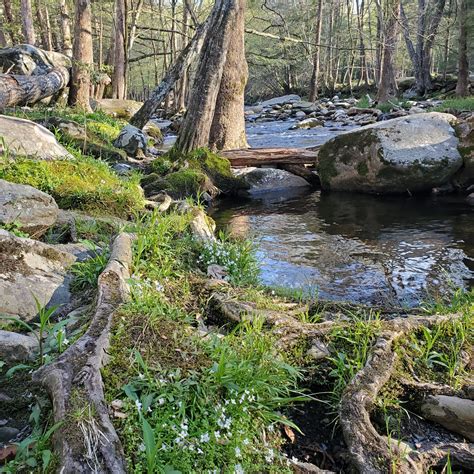
{"label": "bright green moss patch between the pale rocks on left bank", "polygon": [[4,161],[0,163],[0,178],[40,189],[64,209],[127,218],[144,205],[138,176],[121,179],[106,163],[92,158]]}

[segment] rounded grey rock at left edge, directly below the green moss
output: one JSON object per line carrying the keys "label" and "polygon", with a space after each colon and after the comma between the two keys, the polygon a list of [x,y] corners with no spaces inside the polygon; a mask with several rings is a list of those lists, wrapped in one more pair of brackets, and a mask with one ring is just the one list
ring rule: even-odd
{"label": "rounded grey rock at left edge, directly below the green moss", "polygon": [[40,237],[54,225],[58,212],[49,194],[0,179],[0,224],[18,223],[23,232]]}

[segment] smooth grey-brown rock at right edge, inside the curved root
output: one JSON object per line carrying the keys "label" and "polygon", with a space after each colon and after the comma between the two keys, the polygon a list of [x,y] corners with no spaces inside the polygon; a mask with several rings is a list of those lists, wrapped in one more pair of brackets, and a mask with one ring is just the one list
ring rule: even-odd
{"label": "smooth grey-brown rock at right edge, inside the curved root", "polygon": [[446,395],[428,396],[421,405],[422,415],[450,431],[474,441],[474,401]]}

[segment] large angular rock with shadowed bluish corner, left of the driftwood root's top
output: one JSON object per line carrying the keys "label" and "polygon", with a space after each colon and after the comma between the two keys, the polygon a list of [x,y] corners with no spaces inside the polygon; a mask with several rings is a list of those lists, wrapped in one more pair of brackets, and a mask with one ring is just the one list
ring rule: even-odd
{"label": "large angular rock with shadowed bluish corner, left of the driftwood root's top", "polygon": [[42,306],[70,301],[68,269],[76,257],[36,240],[0,229],[0,314],[31,321]]}

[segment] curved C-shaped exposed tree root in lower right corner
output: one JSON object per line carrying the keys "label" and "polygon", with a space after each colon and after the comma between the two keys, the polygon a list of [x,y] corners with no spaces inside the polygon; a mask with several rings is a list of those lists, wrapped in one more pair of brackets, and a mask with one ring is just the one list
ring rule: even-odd
{"label": "curved C-shaped exposed tree root in lower right corner", "polygon": [[365,367],[347,385],[341,400],[340,420],[355,467],[361,473],[425,473],[449,455],[453,464],[474,468],[474,446],[468,443],[426,444],[420,450],[379,435],[370,420],[378,393],[390,379],[397,354],[393,344],[408,332],[431,327],[459,315],[397,318],[387,321]]}

